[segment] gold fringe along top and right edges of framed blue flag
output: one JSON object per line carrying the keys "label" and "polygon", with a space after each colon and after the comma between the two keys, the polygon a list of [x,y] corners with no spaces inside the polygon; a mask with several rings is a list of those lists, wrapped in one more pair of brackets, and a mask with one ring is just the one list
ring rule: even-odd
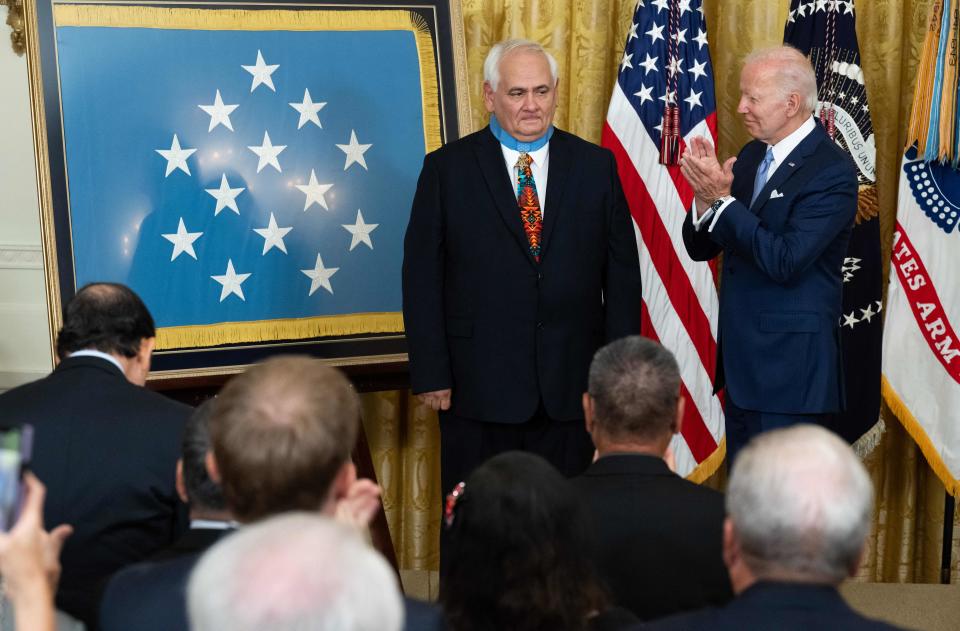
{"label": "gold fringe along top and right edges of framed blue flag", "polygon": [[175,9],[97,4],[57,4],[55,25],[212,31],[410,31],[420,60],[424,148],[442,144],[436,51],[423,16],[404,10]]}

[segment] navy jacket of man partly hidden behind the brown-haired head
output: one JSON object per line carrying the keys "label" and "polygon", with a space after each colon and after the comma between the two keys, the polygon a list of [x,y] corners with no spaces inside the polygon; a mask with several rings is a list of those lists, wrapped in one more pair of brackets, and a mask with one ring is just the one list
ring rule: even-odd
{"label": "navy jacket of man partly hidden behind the brown-haired head", "polygon": [[117,572],[100,605],[100,631],[188,631],[190,571],[207,548],[230,532],[191,529],[150,561]]}

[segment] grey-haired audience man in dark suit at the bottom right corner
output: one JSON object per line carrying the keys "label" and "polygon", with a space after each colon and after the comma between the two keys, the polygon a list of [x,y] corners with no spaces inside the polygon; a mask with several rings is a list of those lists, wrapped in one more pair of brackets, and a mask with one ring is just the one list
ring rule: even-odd
{"label": "grey-haired audience man in dark suit at the bottom right corner", "polygon": [[643,628],[895,628],[854,612],[837,591],[857,573],[872,513],[870,476],[835,434],[797,425],[754,438],[727,487],[723,555],[736,598]]}

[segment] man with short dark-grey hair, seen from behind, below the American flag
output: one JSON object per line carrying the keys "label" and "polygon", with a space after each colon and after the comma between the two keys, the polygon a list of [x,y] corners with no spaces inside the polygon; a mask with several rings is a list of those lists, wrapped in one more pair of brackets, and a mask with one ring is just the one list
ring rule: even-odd
{"label": "man with short dark-grey hair, seen from behind, below the American flag", "polygon": [[604,346],[583,395],[598,459],[572,483],[594,520],[594,559],[614,603],[641,620],[733,597],[723,564],[723,495],[664,461],[680,431],[680,370],[640,336]]}

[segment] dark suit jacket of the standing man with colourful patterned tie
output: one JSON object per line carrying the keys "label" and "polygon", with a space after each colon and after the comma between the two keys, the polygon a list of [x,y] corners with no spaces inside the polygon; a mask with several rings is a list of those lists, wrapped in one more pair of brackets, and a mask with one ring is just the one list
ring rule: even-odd
{"label": "dark suit jacket of the standing man with colourful patterned tie", "polygon": [[523,422],[542,398],[583,418],[593,353],[640,330],[640,268],[613,154],[556,130],[540,263],[489,128],[429,154],[407,226],[403,315],[414,392],[453,413]]}

